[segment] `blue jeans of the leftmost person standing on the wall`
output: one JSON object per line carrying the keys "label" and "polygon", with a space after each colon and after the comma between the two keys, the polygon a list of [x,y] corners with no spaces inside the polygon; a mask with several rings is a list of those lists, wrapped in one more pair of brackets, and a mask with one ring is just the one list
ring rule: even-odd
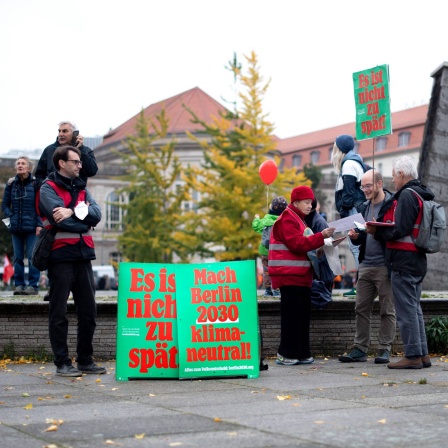
{"label": "blue jeans of the leftmost person standing on the wall", "polygon": [[36,241],[35,233],[12,233],[12,246],[14,248],[14,283],[16,286],[26,286],[25,283],[25,246],[26,258],[28,258],[28,283],[33,288],[37,288],[39,283],[40,271],[31,263],[34,242]]}

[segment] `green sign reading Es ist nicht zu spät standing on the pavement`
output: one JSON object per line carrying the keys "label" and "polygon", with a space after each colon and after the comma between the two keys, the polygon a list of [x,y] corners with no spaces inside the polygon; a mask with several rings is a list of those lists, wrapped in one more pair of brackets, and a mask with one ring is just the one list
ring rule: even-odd
{"label": "green sign reading Es ist nicht zu sp\u00e4t standing on the pavement", "polygon": [[174,265],[120,263],[118,381],[178,378]]}

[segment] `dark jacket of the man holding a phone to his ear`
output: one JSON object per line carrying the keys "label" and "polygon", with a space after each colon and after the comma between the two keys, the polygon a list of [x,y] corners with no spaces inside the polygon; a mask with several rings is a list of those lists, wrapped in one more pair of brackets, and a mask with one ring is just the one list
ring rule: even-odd
{"label": "dark jacket of the man holding a phone to his ear", "polygon": [[[36,179],[40,183],[42,183],[50,173],[56,171],[56,168],[53,165],[53,154],[59,146],[61,145],[56,139],[56,142],[47,146],[40,156],[39,162],[37,162],[36,172],[34,173]],[[87,183],[87,178],[95,176],[98,172],[95,154],[93,153],[93,150],[87,146],[83,145],[78,146],[77,148],[81,151],[82,162],[82,167],[79,170],[79,177]]]}

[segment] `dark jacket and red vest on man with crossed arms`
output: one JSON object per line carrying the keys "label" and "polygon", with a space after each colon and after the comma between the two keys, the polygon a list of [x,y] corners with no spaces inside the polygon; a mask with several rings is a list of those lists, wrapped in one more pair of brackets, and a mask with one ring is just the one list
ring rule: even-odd
{"label": "dark jacket and red vest on man with crossed arms", "polygon": [[73,214],[70,218],[57,224],[58,232],[50,254],[50,263],[94,260],[96,258],[91,227],[100,222],[101,209],[89,191],[86,190],[85,182],[79,177],[69,179],[61,176],[57,171],[51,173],[39,191],[39,212],[45,227],[55,226],[54,208],[67,208],[76,191],[78,191],[78,198],[73,208],[79,202],[84,201],[89,204],[88,214],[83,220]]}

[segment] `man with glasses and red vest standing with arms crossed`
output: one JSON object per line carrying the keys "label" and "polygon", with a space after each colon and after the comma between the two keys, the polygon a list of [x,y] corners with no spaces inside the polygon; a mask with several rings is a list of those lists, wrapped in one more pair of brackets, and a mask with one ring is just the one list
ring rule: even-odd
{"label": "man with glasses and red vest standing with arms crossed", "polygon": [[[77,377],[83,373],[105,373],[93,361],[93,334],[96,327],[95,282],[92,263],[95,247],[91,234],[101,220],[101,209],[86,189],[79,173],[81,151],[60,146],[53,154],[56,171],[49,174],[39,191],[39,213],[45,228],[57,227],[49,263],[51,283],[49,333],[56,374]],[[70,291],[78,315],[77,368],[67,346],[67,299]]]}

